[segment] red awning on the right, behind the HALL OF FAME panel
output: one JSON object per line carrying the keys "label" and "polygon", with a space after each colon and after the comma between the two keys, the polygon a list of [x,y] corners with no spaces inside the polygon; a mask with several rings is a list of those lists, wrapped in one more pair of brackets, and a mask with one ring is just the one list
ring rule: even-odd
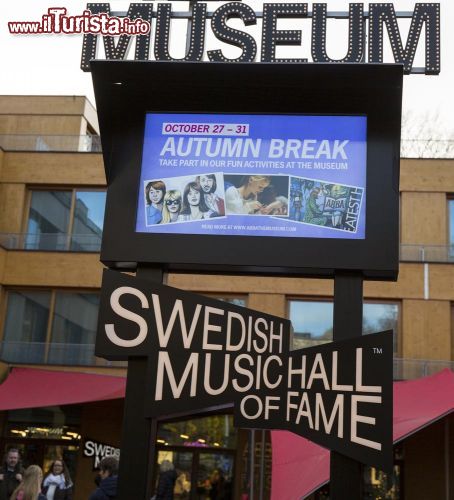
{"label": "red awning on the right, behind the HALL OF FAME panel", "polygon": [[[394,382],[394,442],[454,411],[454,372]],[[329,451],[291,432],[273,431],[271,498],[304,498],[329,481]]]}

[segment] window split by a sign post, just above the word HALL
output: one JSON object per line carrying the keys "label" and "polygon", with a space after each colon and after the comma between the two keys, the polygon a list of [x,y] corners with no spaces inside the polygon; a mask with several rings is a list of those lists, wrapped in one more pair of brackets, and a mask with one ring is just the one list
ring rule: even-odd
{"label": "window split by a sign post, just above the word HALL", "polygon": [[[293,348],[301,349],[333,340],[331,301],[290,300],[289,318],[294,329]],[[399,305],[391,302],[365,302],[363,334],[394,330],[394,353],[398,352]]]}

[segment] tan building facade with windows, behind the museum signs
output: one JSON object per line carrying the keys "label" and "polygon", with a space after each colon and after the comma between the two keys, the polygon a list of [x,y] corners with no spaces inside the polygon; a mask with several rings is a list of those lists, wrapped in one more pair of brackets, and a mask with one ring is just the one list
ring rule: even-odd
{"label": "tan building facade with windows, behind the museum signs", "polygon": [[[125,376],[124,363],[94,356],[106,190],[98,131],[83,97],[0,97],[2,380],[11,368]],[[399,279],[365,283],[363,329],[394,330],[395,378],[406,380],[454,367],[454,160],[403,158],[400,191]],[[167,283],[288,317],[294,347],[332,338],[332,280],[172,273]],[[2,411],[0,451],[18,447],[24,463],[44,468],[63,456],[82,500],[96,474],[86,443],[118,447],[122,413],[118,398]],[[156,458],[177,465],[176,498],[207,498],[215,469],[232,498],[251,488],[253,498],[268,498],[270,450],[268,433],[235,429],[222,413],[162,424]],[[452,413],[396,446],[395,456],[396,484],[369,471],[370,491],[452,495]]]}

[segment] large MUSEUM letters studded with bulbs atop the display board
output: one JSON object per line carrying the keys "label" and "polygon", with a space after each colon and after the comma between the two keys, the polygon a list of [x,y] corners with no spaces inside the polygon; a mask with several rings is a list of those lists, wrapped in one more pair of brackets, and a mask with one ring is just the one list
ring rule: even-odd
{"label": "large MUSEUM letters studded with bulbs atop the display board", "polygon": [[[155,11],[156,5],[156,11]],[[151,25],[147,34],[135,38],[134,59],[147,61],[153,50],[156,61],[217,61],[217,62],[289,62],[306,63],[343,62],[343,63],[382,63],[396,62],[404,65],[405,74],[420,73],[438,75],[440,73],[440,4],[416,3],[413,12],[396,12],[392,3],[351,3],[348,12],[327,10],[326,3],[314,3],[311,11],[307,3],[264,3],[262,12],[255,12],[243,2],[228,2],[214,11],[208,11],[207,3],[195,2],[189,13],[172,11],[170,3],[151,2],[130,4],[126,17],[131,21],[142,19]],[[109,3],[88,3],[92,14],[111,15]],[[113,13],[120,17],[118,13]],[[172,19],[183,18],[190,21],[187,37],[181,37],[185,44],[185,56],[176,59],[170,54],[170,33]],[[261,39],[256,40],[247,31],[232,28],[228,21],[238,18],[245,27],[259,24],[261,20]],[[302,29],[284,30],[278,28],[279,19],[310,19],[310,47],[301,47],[301,58],[278,58],[278,46],[302,46]],[[345,57],[332,59],[327,52],[327,21],[336,19],[339,24],[348,21],[348,49]],[[408,32],[398,24],[398,20],[410,19]],[[222,49],[205,50],[207,26],[214,37],[231,46],[241,49],[241,54],[229,58]],[[296,28],[298,28],[296,26]],[[331,29],[331,28],[330,28]],[[99,59],[98,40],[101,35],[86,34],[83,39],[81,69],[90,71],[90,60]],[[333,36],[333,35],[331,35]],[[154,40],[154,45],[151,40]],[[388,40],[386,39],[388,38]],[[405,43],[404,41],[405,40]],[[384,60],[384,47],[391,47],[392,58]],[[339,42],[341,42],[339,40]],[[103,36],[106,59],[123,60],[128,56],[132,36],[123,34],[118,38]],[[424,66],[415,66],[418,46],[424,47]]]}

